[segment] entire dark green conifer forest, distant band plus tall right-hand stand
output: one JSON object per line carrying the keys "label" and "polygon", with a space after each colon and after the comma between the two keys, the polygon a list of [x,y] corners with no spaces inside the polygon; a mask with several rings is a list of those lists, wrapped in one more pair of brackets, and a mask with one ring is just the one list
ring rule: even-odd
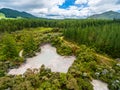
{"label": "entire dark green conifer forest, distant band plus tall right-hand stand", "polygon": [[98,52],[111,57],[120,57],[119,20],[47,20],[12,19],[0,20],[0,32],[14,32],[24,28],[62,28],[65,38],[79,44],[86,44]]}

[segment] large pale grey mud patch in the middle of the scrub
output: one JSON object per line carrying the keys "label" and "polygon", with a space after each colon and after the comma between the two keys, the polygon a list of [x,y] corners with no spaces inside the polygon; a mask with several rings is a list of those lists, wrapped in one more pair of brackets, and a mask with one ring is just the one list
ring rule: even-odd
{"label": "large pale grey mud patch in the middle of the scrub", "polygon": [[26,63],[17,69],[11,69],[8,74],[24,74],[27,69],[39,69],[42,64],[50,68],[53,72],[67,73],[69,67],[75,60],[75,56],[60,56],[56,53],[56,48],[50,44],[41,46],[41,52],[36,53],[35,57],[27,58]]}

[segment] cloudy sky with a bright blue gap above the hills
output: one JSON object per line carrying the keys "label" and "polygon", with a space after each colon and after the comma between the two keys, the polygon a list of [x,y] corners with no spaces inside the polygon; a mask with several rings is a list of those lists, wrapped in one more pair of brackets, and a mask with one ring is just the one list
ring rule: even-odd
{"label": "cloudy sky with a bright blue gap above the hills", "polygon": [[110,10],[120,11],[120,0],[0,0],[0,8],[44,18],[85,18]]}

